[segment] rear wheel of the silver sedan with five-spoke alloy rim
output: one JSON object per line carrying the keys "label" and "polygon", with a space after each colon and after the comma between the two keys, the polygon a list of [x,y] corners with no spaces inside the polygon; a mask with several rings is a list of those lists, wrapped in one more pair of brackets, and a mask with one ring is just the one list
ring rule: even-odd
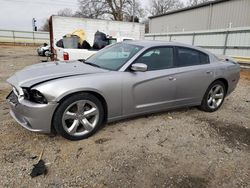
{"label": "rear wheel of the silver sedan with five-spoke alloy rim", "polygon": [[208,87],[199,108],[205,112],[214,112],[221,107],[225,96],[225,84],[217,80]]}

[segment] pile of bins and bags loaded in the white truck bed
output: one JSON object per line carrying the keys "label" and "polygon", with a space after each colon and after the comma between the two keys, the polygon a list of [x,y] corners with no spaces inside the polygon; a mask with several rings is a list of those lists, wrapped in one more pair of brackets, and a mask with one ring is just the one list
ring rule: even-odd
{"label": "pile of bins and bags loaded in the white truck bed", "polygon": [[93,47],[86,41],[85,32],[82,29],[77,29],[72,33],[66,34],[62,39],[57,41],[56,45],[61,48],[71,49],[95,49],[100,50],[109,44],[109,40],[105,33],[97,31],[95,33]]}

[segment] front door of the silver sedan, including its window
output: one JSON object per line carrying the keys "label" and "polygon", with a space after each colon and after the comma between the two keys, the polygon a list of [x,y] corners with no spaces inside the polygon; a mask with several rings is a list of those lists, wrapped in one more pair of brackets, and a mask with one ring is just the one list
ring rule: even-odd
{"label": "front door of the silver sedan, including its window", "polygon": [[124,72],[123,113],[137,114],[174,106],[176,92],[174,48],[151,48],[133,63],[146,64],[148,70]]}

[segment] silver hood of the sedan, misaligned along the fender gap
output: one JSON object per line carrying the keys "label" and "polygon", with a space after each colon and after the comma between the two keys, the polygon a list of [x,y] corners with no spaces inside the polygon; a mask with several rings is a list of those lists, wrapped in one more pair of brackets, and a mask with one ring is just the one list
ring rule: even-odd
{"label": "silver hood of the sedan, misaligned along the fender gap", "polygon": [[31,87],[48,80],[103,72],[108,72],[108,70],[93,67],[80,61],[48,62],[25,67],[16,72],[7,82],[15,87]]}

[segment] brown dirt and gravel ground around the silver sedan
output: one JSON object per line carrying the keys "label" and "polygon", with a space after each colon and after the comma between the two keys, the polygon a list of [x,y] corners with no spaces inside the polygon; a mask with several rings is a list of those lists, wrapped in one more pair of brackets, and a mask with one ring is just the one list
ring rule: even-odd
{"label": "brown dirt and gravel ground around the silver sedan", "polygon": [[[42,59],[34,47],[0,46],[0,187],[250,187],[250,71],[217,112],[173,110],[72,142],[29,132],[8,113],[5,80]],[[32,179],[43,147],[48,173]]]}

